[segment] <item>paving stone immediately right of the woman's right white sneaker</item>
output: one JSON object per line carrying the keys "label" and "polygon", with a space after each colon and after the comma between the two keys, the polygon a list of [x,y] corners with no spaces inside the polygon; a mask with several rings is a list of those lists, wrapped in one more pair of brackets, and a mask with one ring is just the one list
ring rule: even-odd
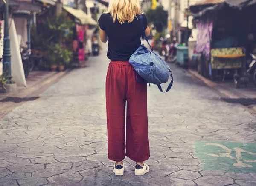
{"label": "paving stone immediately right of the woman's right white sneaker", "polygon": [[148,175],[152,177],[164,177],[180,169],[169,164],[154,164],[149,167],[149,170]]}

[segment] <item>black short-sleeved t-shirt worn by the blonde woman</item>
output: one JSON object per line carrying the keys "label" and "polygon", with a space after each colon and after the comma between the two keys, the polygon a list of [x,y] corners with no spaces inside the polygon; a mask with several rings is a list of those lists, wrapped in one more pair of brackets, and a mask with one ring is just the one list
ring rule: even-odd
{"label": "black short-sleeved t-shirt worn by the blonde woman", "polygon": [[[148,20],[143,15],[144,30]],[[138,17],[138,16],[137,16]],[[139,17],[138,17],[139,19]],[[102,14],[99,18],[99,27],[108,35],[108,58],[112,61],[128,61],[131,55],[141,44],[140,20],[134,17],[131,23],[125,21],[120,24],[116,19],[113,23],[111,14]]]}

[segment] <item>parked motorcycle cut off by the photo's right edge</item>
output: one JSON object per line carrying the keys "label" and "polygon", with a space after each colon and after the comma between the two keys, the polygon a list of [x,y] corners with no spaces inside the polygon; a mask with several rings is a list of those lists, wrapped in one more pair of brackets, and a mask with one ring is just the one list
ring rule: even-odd
{"label": "parked motorcycle cut off by the photo's right edge", "polygon": [[256,55],[250,54],[253,58],[252,62],[249,65],[249,68],[245,72],[243,77],[240,77],[238,74],[234,74],[235,87],[239,88],[241,84],[247,86],[250,81],[256,86]]}

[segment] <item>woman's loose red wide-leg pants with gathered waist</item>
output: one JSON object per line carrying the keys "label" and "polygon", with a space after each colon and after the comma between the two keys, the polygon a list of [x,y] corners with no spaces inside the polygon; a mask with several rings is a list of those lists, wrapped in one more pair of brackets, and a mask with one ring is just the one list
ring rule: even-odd
{"label": "woman's loose red wide-leg pants with gathered waist", "polygon": [[110,62],[106,79],[106,106],[108,158],[122,161],[128,156],[136,162],[148,160],[147,84],[137,82],[136,72],[129,62]]}

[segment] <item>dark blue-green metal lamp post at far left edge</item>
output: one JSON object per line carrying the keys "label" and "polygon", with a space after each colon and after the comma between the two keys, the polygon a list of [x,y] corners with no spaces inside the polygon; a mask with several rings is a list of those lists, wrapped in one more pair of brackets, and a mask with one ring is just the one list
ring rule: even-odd
{"label": "dark blue-green metal lamp post at far left edge", "polygon": [[4,38],[3,38],[3,72],[6,72],[6,78],[8,81],[6,84],[12,84],[12,71],[11,71],[11,49],[10,49],[10,37],[9,37],[9,0],[6,0],[4,11]]}

